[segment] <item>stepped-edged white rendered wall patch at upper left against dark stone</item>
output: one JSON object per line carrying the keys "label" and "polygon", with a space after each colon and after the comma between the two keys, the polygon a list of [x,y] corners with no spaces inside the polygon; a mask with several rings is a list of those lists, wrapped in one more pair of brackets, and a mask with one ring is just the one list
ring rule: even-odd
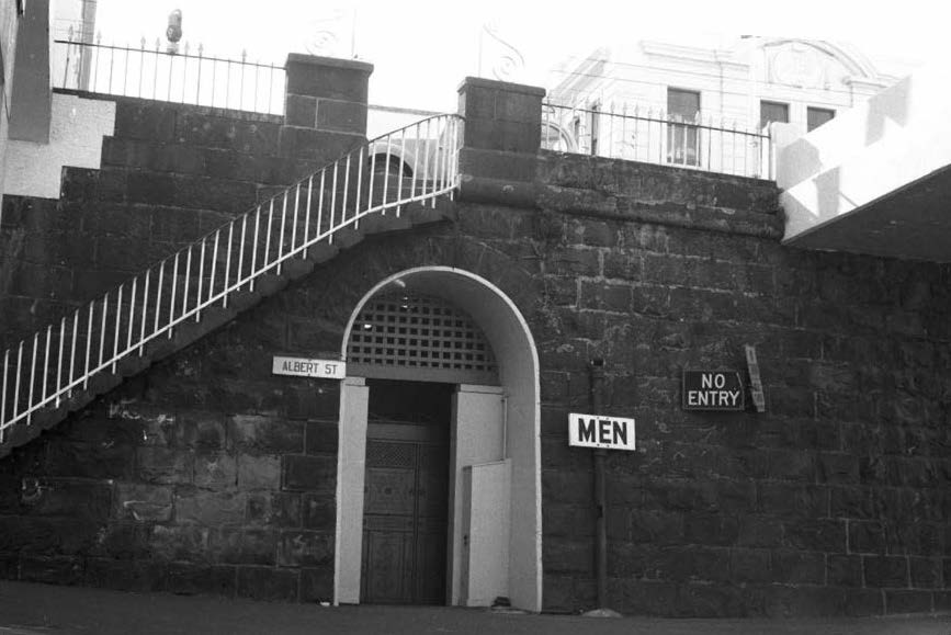
{"label": "stepped-edged white rendered wall patch at upper left against dark stone", "polygon": [[7,143],[3,192],[59,199],[63,167],[99,169],[102,137],[114,132],[114,102],[53,93],[49,143]]}

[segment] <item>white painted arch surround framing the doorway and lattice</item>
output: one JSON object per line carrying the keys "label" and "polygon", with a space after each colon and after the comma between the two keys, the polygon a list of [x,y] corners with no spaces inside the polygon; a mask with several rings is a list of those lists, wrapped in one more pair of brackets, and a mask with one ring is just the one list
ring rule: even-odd
{"label": "white painted arch surround framing the doorway and lattice", "polygon": [[[499,367],[505,393],[508,454],[512,458],[509,592],[512,604],[542,609],[542,481],[540,442],[539,353],[529,325],[514,303],[491,282],[451,267],[401,271],[371,288],[354,307],[343,333],[341,359],[363,306],[385,287],[441,297],[467,311],[483,329]],[[337,540],[333,600],[360,600],[360,542],[363,533],[365,399],[362,378],[344,379],[340,396],[340,443],[337,465]],[[360,411],[362,404],[363,411]],[[355,544],[354,544],[355,543]]]}

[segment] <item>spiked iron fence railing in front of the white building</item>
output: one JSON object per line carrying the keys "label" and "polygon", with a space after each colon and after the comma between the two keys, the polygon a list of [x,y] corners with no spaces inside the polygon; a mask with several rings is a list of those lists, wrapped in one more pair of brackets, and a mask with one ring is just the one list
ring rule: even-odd
{"label": "spiked iron fence railing in front of the white building", "polygon": [[683,120],[660,110],[626,105],[619,111],[545,103],[542,147],[741,177],[774,177],[768,134],[699,114]]}

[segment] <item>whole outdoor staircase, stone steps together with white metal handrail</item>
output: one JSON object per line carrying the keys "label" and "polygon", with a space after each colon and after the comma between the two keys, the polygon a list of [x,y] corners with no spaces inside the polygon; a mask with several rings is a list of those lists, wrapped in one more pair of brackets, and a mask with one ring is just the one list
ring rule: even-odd
{"label": "whole outdoor staircase, stone steps together with white metal handrail", "polygon": [[438,115],[350,151],[4,351],[0,457],[364,236],[451,215],[460,121]]}

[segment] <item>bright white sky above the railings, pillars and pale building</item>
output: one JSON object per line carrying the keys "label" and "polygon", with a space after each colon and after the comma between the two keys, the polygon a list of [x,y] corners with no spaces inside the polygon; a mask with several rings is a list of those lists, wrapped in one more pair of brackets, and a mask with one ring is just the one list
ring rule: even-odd
{"label": "bright white sky above the railings, pillars and pale building", "polygon": [[[783,4],[783,11],[774,9]],[[247,50],[249,60],[275,64],[288,53],[355,57],[374,65],[371,104],[452,112],[466,76],[493,78],[506,59],[510,81],[548,87],[566,58],[636,39],[728,46],[744,33],[817,37],[849,43],[892,71],[947,58],[947,20],[936,14],[939,5],[933,0],[901,5],[872,0],[98,0],[97,29],[103,43],[138,46],[145,37],[154,46],[163,37],[169,12],[179,9],[183,41],[192,47],[201,42],[205,55],[237,59]]]}

